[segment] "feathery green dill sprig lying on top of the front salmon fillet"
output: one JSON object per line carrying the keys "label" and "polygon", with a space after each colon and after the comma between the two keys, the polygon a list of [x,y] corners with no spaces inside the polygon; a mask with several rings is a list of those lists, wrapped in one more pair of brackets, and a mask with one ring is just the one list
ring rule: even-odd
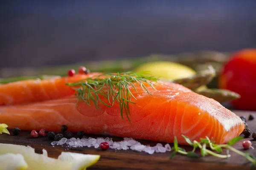
{"label": "feathery green dill sprig lying on top of the front salmon fillet", "polygon": [[[104,73],[95,77],[90,77],[77,82],[67,83],[76,91],[76,96],[80,101],[90,105],[90,101],[93,101],[96,109],[99,108],[99,102],[111,107],[114,102],[119,103],[121,117],[123,119],[123,112],[127,116],[131,123],[129,116],[129,104],[135,104],[131,101],[132,98],[136,99],[131,93],[129,88],[134,88],[137,92],[136,87],[133,83],[137,83],[140,87],[148,94],[151,94],[144,83],[148,83],[154,90],[154,84],[158,78],[153,76],[145,76],[146,72],[123,72],[123,73]],[[108,99],[108,102],[103,102],[100,96],[104,96]]]}

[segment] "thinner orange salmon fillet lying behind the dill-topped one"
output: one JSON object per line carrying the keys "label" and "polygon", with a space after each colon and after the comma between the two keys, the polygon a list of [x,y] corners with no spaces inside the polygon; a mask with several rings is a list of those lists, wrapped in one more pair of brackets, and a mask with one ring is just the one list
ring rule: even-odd
{"label": "thinner orange salmon fillet lying behind the dill-topped one", "polygon": [[74,94],[68,82],[76,82],[100,73],[76,74],[72,77],[53,79],[29,79],[0,85],[0,105],[15,105],[39,102]]}

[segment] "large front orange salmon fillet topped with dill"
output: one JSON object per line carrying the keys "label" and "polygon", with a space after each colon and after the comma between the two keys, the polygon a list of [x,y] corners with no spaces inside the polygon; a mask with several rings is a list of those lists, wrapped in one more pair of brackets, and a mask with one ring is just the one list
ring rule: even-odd
{"label": "large front orange salmon fillet topped with dill", "polygon": [[[84,130],[89,134],[161,142],[173,142],[176,136],[180,144],[187,144],[181,135],[192,140],[208,136],[217,144],[223,144],[244,130],[243,122],[235,113],[182,85],[158,82],[154,90],[146,83],[152,95],[143,91],[139,84],[134,83],[134,86],[137,92],[129,87],[137,99],[132,98],[135,104],[129,104],[131,123],[127,117],[121,118],[118,102],[111,107],[99,102],[100,109],[96,109],[93,102],[92,105],[77,102],[73,92],[59,95],[61,98],[40,99],[41,102],[25,99],[33,103],[0,106],[0,122],[22,130],[46,128],[47,131],[60,131],[61,125],[67,125],[71,132]],[[105,96],[99,95],[99,98],[108,103]],[[19,102],[15,100],[13,103]]]}

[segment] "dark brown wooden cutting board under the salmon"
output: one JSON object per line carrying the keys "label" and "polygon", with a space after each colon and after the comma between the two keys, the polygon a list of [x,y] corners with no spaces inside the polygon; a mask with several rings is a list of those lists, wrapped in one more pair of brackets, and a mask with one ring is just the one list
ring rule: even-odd
{"label": "dark brown wooden cutting board under the salmon", "polygon": [[[253,114],[256,117],[256,112],[249,111],[233,111],[239,116],[248,117],[249,114]],[[247,121],[248,127],[252,132],[256,132],[256,118],[251,121]],[[102,137],[95,135],[88,135],[88,137]],[[252,142],[252,146],[256,148],[256,141],[250,137],[248,138]],[[248,140],[243,139],[243,140]],[[122,138],[114,137],[114,141],[121,141]],[[243,150],[242,141],[234,145],[236,149],[244,152],[252,153],[256,156],[256,149]],[[138,140],[142,144],[150,144],[154,146],[158,142]],[[67,147],[63,146],[51,146],[51,142],[47,137],[38,137],[36,139],[30,137],[29,131],[22,131],[18,136],[12,136],[3,134],[0,135],[0,143],[10,144],[22,144],[30,145],[35,148],[37,153],[42,153],[42,149],[46,149],[50,157],[57,158],[62,151],[87,153],[87,154],[99,154],[101,158],[99,161],[87,170],[250,170],[250,162],[245,160],[242,156],[237,155],[230,151],[230,159],[219,159],[213,156],[206,156],[204,158],[189,158],[186,156],[176,155],[172,160],[169,160],[170,152],[167,153],[154,153],[149,155],[143,152],[136,152],[132,150],[101,150],[82,147],[73,148],[67,150]],[[165,143],[163,143],[165,144]],[[184,147],[186,150],[191,150],[189,146]]]}

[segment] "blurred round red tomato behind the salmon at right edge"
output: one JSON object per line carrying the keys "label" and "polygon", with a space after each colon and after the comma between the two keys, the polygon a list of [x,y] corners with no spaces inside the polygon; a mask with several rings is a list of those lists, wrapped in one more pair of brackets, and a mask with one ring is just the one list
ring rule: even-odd
{"label": "blurred round red tomato behind the salmon at right edge", "polygon": [[232,54],[219,75],[218,85],[241,95],[232,101],[237,109],[256,111],[256,48]]}

